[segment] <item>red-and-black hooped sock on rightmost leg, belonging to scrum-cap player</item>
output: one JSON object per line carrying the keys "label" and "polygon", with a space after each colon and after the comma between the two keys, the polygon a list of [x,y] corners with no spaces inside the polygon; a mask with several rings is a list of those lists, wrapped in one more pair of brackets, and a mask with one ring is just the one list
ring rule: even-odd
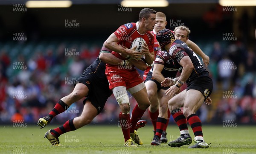
{"label": "red-and-black hooped sock on rightmost leg, belonging to scrum-cap player", "polygon": [[199,117],[194,113],[192,115],[188,116],[188,122],[194,132],[195,137],[196,136],[203,136],[202,132],[202,123]]}

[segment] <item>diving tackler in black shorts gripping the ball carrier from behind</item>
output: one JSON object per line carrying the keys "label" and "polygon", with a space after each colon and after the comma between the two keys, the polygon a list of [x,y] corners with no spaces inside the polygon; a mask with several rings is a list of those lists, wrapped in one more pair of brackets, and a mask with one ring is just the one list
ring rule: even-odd
{"label": "diving tackler in black shorts gripping the ball carrier from behind", "polygon": [[[127,60],[124,61],[122,59],[118,59],[110,52],[111,50],[102,47],[99,57],[103,60],[111,59],[111,63],[115,65],[131,65]],[[136,55],[139,52],[126,50],[125,53],[134,58],[138,58]],[[46,132],[44,138],[47,138],[53,146],[60,146],[58,137],[61,134],[74,131],[89,124],[93,118],[102,111],[105,106],[105,102],[112,94],[112,91],[108,88],[108,80],[105,76],[105,63],[102,62],[99,57],[89,67],[87,67],[87,69],[84,70],[84,73],[77,79],[77,84],[75,85],[73,92],[61,98],[47,116],[38,120],[38,126],[42,129],[50,123],[52,118],[67,110],[71,104],[86,97],[83,101],[83,112],[79,117],[67,120],[64,125],[55,129],[50,129]],[[135,60],[131,59],[131,62],[132,61],[135,62]],[[137,63],[140,64],[140,62],[136,62],[135,65]],[[145,62],[142,62],[140,65],[136,65],[136,67],[145,70],[145,66],[143,66],[143,64],[145,64]]]}

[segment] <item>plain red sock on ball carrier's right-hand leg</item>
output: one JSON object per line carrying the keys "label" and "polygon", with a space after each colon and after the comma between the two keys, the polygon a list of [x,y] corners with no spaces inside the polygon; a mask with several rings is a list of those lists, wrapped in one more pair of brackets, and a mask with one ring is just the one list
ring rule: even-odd
{"label": "plain red sock on ball carrier's right-hand leg", "polygon": [[140,109],[138,104],[134,107],[131,113],[131,129],[130,133],[134,133],[137,122],[141,119],[146,110]]}

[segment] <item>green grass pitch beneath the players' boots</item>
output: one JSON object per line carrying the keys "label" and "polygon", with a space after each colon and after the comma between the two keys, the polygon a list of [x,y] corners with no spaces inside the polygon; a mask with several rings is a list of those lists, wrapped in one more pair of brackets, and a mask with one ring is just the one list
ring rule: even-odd
{"label": "green grass pitch beneath the players' boots", "polygon": [[[256,127],[240,126],[203,126],[208,149],[189,149],[188,146],[171,148],[167,144],[151,146],[153,138],[151,124],[139,129],[143,145],[123,147],[122,130],[117,125],[84,126],[59,137],[63,146],[51,146],[44,133],[56,126],[49,124],[43,129],[39,126],[13,127],[0,125],[1,154],[253,154],[256,153]],[[190,134],[194,137],[192,130]],[[179,136],[176,125],[167,128],[168,141]],[[193,143],[192,143],[193,144]]]}

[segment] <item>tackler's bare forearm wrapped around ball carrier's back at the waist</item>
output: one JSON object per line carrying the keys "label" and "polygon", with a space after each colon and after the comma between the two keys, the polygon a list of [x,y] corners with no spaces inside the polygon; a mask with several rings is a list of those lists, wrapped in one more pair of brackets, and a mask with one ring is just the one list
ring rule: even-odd
{"label": "tackler's bare forearm wrapped around ball carrier's back at the waist", "polygon": [[117,58],[116,56],[112,55],[111,53],[100,53],[99,59],[102,60],[102,62],[105,62],[106,64],[111,64],[111,65],[122,65],[123,60]]}

